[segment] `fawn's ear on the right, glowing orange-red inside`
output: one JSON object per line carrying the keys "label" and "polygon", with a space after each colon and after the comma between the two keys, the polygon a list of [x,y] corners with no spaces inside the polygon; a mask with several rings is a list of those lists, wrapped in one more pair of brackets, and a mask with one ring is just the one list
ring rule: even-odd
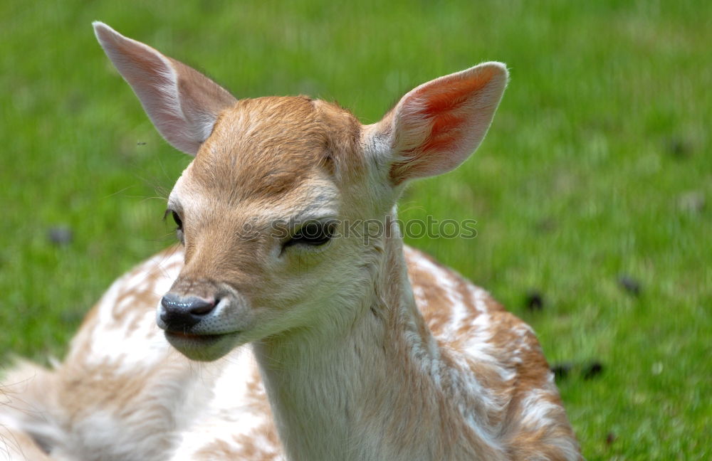
{"label": "fawn's ear on the right, glowing orange-red inside", "polygon": [[477,149],[507,85],[502,63],[482,63],[436,78],[402,97],[375,126],[389,146],[394,184],[459,166]]}

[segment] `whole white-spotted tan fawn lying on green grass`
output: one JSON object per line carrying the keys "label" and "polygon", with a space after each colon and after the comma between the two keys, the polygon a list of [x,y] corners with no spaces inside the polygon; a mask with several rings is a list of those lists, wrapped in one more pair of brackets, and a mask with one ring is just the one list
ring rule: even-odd
{"label": "whole white-spotted tan fawn lying on green grass", "polygon": [[[308,97],[237,100],[94,28],[160,134],[195,157],[168,199],[181,245],[117,280],[62,364],[5,379],[16,452],[581,459],[532,329],[395,228],[404,186],[482,141],[503,64],[424,83],[362,125]],[[345,233],[355,222],[382,232]]]}

